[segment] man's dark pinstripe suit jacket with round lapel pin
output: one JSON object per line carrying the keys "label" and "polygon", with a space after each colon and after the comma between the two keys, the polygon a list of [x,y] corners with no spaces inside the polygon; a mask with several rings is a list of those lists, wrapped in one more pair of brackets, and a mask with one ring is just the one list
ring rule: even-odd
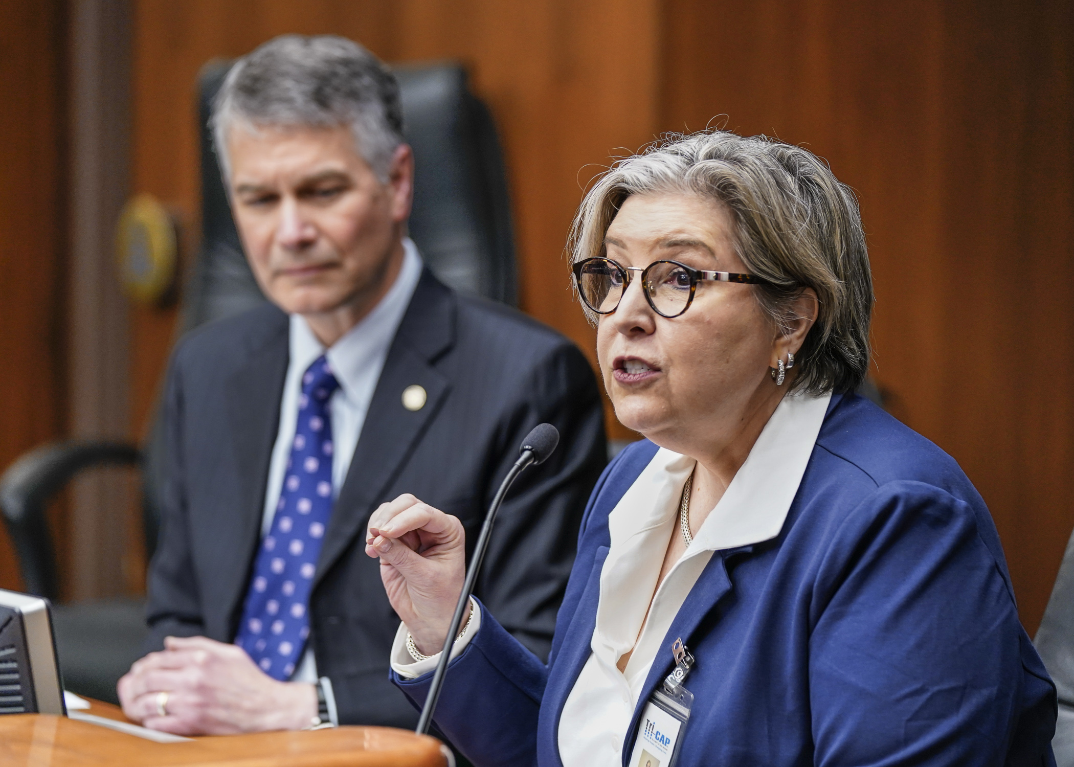
{"label": "man's dark pinstripe suit jacket with round lapel pin", "polygon": [[[261,538],[288,338],[288,317],[265,305],[199,329],[175,351],[147,650],[166,635],[235,637]],[[410,411],[402,393],[415,384],[427,400]],[[458,516],[474,540],[519,445],[543,421],[560,430],[560,449],[512,488],[478,584],[504,626],[541,656],[585,501],[607,463],[596,381],[563,336],[508,307],[456,294],[426,270],[388,352],[314,576],[311,642],[340,722],[417,722],[388,680],[398,618],[377,560],[364,551],[369,515],[412,493]]]}

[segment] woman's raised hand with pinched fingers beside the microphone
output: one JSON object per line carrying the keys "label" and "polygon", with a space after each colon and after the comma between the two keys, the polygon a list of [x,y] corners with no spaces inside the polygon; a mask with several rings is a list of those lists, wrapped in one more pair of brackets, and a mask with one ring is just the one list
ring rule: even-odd
{"label": "woman's raised hand with pinched fingers beside the microphone", "polygon": [[426,655],[439,652],[448,636],[466,575],[465,544],[458,518],[410,494],[381,504],[369,518],[365,553],[380,559],[388,599]]}

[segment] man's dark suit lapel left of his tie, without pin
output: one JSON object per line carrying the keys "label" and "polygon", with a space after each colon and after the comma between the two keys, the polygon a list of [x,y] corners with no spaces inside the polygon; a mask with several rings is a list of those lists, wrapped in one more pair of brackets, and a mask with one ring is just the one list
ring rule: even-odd
{"label": "man's dark suit lapel left of his tie, without pin", "polygon": [[240,541],[235,556],[219,563],[219,594],[228,610],[229,625],[237,623],[237,610],[246,594],[253,553],[261,540],[268,463],[279,431],[279,402],[290,354],[287,316],[272,332],[255,342],[244,363],[228,379],[226,397],[242,505],[233,515],[221,515],[220,535]]}

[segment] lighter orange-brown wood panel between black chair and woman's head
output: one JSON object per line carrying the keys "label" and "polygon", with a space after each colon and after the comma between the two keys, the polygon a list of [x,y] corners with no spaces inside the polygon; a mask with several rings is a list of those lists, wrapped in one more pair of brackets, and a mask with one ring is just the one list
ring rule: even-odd
{"label": "lighter orange-brown wood panel between black chair and woman's head", "polygon": [[[514,204],[521,307],[595,362],[596,336],[572,298],[564,245],[587,182],[611,156],[654,138],[659,3],[416,0],[403,9],[393,58],[466,61],[496,116]],[[633,435],[610,407],[606,413],[613,437]]]}

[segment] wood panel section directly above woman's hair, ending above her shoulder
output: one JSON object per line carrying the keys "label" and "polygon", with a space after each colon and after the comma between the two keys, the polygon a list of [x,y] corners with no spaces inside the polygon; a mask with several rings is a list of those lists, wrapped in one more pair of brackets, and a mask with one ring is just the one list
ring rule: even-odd
{"label": "wood panel section directly above woman's hair, ending above her shoulder", "polygon": [[[664,125],[697,130],[723,115],[717,122],[740,133],[801,143],[826,158],[862,207],[877,292],[874,332],[881,338],[890,327],[903,339],[877,341],[874,372],[884,384],[905,372],[923,391],[934,390],[943,361],[932,329],[945,275],[938,233],[944,170],[930,118],[943,108],[932,4],[672,6],[669,39],[678,44],[668,48]],[[910,420],[939,410],[928,397],[906,407]]]}

